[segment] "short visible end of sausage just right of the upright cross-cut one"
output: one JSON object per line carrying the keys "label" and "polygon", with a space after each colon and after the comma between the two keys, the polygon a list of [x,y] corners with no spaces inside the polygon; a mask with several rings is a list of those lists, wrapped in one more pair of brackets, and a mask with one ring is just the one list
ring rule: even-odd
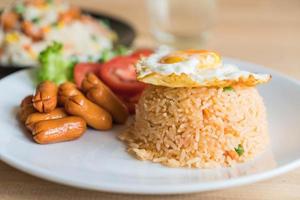
{"label": "short visible end of sausage just right of the upright cross-cut one", "polygon": [[58,104],[64,106],[68,98],[76,95],[83,94],[77,89],[74,83],[65,82],[58,88]]}

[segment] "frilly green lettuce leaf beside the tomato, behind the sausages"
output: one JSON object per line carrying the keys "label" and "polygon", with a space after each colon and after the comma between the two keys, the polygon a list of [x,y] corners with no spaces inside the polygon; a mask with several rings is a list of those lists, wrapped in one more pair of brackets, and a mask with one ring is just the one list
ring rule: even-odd
{"label": "frilly green lettuce leaf beside the tomato, behind the sausages", "polygon": [[40,67],[37,71],[38,81],[53,81],[60,84],[73,80],[74,60],[67,60],[62,54],[63,45],[53,42],[39,55]]}

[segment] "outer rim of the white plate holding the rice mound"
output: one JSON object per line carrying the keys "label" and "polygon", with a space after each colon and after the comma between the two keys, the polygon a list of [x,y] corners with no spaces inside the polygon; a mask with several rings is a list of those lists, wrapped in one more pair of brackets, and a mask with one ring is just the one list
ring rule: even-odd
{"label": "outer rim of the white plate holding the rice mound", "polygon": [[[298,85],[298,87],[300,87],[300,81],[298,81],[297,79],[290,77],[286,74],[282,74],[276,70],[264,67],[263,65],[255,64],[240,59],[229,58],[229,57],[224,57],[224,61],[229,63],[234,63],[237,65],[252,65],[255,67],[259,67],[262,70],[269,71],[271,74],[288,79],[289,81],[292,81],[293,83]],[[32,69],[25,69],[25,70],[29,71]],[[11,75],[4,77],[3,79],[0,80],[0,84],[2,81],[5,81],[6,78],[16,75],[17,73],[22,73],[25,70],[20,70],[18,72],[15,72]],[[33,169],[32,166],[30,166],[29,164],[23,163],[22,161],[18,161],[14,159],[14,157],[3,153],[1,149],[0,149],[0,160],[27,174],[48,181],[52,181],[58,184],[62,184],[62,185],[67,185],[67,186],[72,186],[72,187],[82,188],[87,190],[103,191],[103,192],[114,192],[114,193],[122,193],[122,194],[151,194],[151,195],[187,194],[187,193],[195,193],[195,192],[221,190],[221,189],[226,189],[234,186],[242,186],[242,185],[266,180],[300,167],[300,158],[298,158],[290,163],[284,164],[280,167],[273,168],[268,171],[254,173],[242,177],[236,177],[228,180],[212,181],[205,184],[204,183],[191,183],[191,184],[184,184],[184,185],[177,184],[177,185],[173,185],[172,187],[169,187],[168,185],[159,185],[159,187],[155,187],[155,188],[140,186],[140,188],[137,189],[134,185],[120,186],[120,185],[105,184],[101,181],[99,181],[98,184],[88,184],[88,183],[83,184],[83,182],[81,181],[77,181],[77,180],[74,181],[67,177],[59,177],[55,175],[55,173],[51,173],[51,171],[49,172],[48,170],[43,170],[40,168]]]}

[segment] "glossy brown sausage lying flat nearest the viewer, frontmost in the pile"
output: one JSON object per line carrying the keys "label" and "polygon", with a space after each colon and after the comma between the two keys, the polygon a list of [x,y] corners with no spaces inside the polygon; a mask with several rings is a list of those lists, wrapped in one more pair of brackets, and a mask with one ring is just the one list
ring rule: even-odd
{"label": "glossy brown sausage lying flat nearest the viewer, frontmost in the pile", "polygon": [[86,123],[80,117],[50,119],[34,124],[33,139],[39,144],[75,140],[83,135]]}

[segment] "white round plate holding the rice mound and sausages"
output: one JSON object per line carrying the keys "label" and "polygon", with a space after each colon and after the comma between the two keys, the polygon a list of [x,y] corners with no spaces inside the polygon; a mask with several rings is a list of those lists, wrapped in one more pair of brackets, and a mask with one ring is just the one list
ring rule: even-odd
{"label": "white round plate holding the rice mound and sausages", "polygon": [[250,71],[271,73],[259,86],[267,106],[272,148],[254,161],[224,169],[173,169],[138,161],[116,135],[88,130],[79,140],[38,145],[16,120],[18,105],[34,91],[33,71],[0,81],[0,158],[29,174],[80,188],[139,194],[215,190],[267,179],[300,165],[300,84],[251,63],[226,59]]}

